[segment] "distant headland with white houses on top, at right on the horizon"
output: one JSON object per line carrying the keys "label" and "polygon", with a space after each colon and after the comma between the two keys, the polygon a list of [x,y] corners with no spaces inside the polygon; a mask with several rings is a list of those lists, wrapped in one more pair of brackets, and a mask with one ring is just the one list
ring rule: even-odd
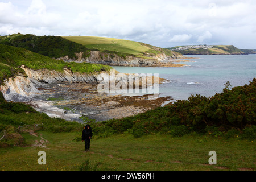
{"label": "distant headland with white houses on top, at right on the horizon", "polygon": [[244,54],[240,49],[233,45],[197,45],[197,46],[177,46],[167,48],[172,51],[180,52],[183,55],[233,55]]}

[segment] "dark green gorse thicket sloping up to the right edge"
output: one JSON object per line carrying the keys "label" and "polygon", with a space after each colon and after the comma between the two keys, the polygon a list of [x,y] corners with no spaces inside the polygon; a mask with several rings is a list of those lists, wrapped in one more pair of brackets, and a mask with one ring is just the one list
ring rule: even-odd
{"label": "dark green gorse thicket sloping up to the right edge", "polygon": [[241,131],[246,138],[255,138],[255,111],[254,78],[249,85],[232,90],[225,88],[222,93],[210,98],[196,94],[169,106],[133,117],[93,123],[93,126],[95,133],[104,136],[132,131],[134,137],[157,132],[174,136],[196,132],[210,133],[215,137],[228,134],[231,137]]}

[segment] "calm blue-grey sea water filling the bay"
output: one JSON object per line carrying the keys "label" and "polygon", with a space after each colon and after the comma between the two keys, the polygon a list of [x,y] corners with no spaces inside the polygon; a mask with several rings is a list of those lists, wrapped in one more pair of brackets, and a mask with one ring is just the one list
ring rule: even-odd
{"label": "calm blue-grey sea water filling the bay", "polygon": [[189,55],[194,62],[185,67],[113,67],[122,73],[155,73],[170,82],[159,85],[160,97],[187,100],[192,94],[205,97],[221,93],[225,83],[232,87],[249,84],[256,77],[256,55]]}

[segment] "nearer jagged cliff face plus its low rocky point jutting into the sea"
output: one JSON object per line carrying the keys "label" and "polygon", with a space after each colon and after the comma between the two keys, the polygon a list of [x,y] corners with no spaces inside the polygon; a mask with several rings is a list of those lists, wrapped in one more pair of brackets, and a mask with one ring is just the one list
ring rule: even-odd
{"label": "nearer jagged cliff face plus its low rocky point jutting into the sea", "polygon": [[[0,86],[0,91],[5,96],[6,100],[19,100],[23,98],[28,98],[31,95],[39,94],[40,91],[37,89],[42,84],[52,84],[58,82],[76,82],[76,83],[88,83],[88,84],[100,84],[108,83],[110,80],[114,80],[115,84],[123,81],[129,81],[129,75],[124,73],[119,73],[117,71],[112,72],[94,72],[94,73],[80,73],[72,72],[68,68],[64,68],[63,72],[58,72],[55,70],[40,69],[34,70],[27,68],[22,65],[22,68],[26,76],[16,76],[13,78],[8,78],[4,81],[4,84]],[[150,79],[152,84],[160,84],[166,80],[154,76],[146,76]],[[134,75],[136,83],[141,86],[142,78],[144,75]],[[107,81],[107,82],[106,82]],[[135,84],[135,82],[134,82]],[[150,86],[150,85],[147,85]]]}

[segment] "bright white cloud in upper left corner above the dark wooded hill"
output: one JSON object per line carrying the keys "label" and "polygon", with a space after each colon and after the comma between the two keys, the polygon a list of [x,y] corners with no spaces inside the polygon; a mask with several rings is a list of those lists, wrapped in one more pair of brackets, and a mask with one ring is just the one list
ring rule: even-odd
{"label": "bright white cloud in upper left corner above the dark wooded hill", "polygon": [[26,10],[20,10],[11,2],[0,2],[0,17],[2,23],[0,34],[12,34],[16,30],[25,34],[36,34],[36,32],[42,34],[43,31],[49,32],[47,30],[56,26],[61,19],[60,14],[48,12],[41,0],[32,0]]}

